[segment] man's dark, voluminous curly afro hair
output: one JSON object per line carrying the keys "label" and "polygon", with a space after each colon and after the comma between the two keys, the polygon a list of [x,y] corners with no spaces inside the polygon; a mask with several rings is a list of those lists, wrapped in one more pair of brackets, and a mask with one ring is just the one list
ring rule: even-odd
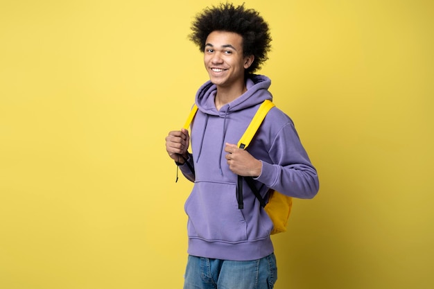
{"label": "man's dark, voluminous curly afro hair", "polygon": [[247,9],[244,4],[235,7],[232,3],[220,3],[220,6],[205,8],[191,24],[193,31],[189,40],[205,51],[205,41],[209,33],[220,30],[238,33],[243,37],[243,55],[254,55],[254,61],[245,73],[254,73],[268,60],[271,50],[271,36],[268,23],[259,12]]}

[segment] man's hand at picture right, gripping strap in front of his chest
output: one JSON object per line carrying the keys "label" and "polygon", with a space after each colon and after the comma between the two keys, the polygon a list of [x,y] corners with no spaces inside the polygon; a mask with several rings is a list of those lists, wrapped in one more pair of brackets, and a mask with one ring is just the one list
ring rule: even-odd
{"label": "man's hand at picture right, gripping strap in front of his chest", "polygon": [[262,162],[255,159],[247,150],[238,148],[235,144],[226,143],[225,152],[229,170],[243,177],[257,177],[262,171]]}

